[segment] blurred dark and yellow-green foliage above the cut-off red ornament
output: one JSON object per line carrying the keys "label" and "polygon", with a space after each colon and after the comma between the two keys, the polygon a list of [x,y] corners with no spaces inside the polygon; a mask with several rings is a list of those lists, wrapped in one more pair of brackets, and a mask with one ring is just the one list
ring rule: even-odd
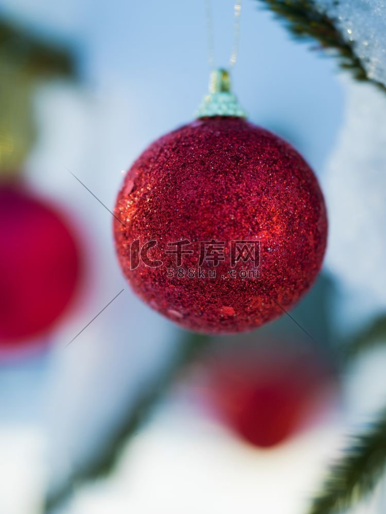
{"label": "blurred dark and yellow-green foliage above the cut-off red ornament", "polygon": [[0,173],[20,171],[36,141],[33,93],[38,81],[74,79],[71,52],[0,19]]}

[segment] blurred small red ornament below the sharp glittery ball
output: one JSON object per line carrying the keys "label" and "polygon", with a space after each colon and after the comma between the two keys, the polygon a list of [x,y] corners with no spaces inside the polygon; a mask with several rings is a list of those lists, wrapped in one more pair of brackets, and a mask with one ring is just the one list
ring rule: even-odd
{"label": "blurred small red ornament below the sharp glittery ball", "polygon": [[283,343],[274,351],[225,353],[210,364],[208,382],[206,399],[220,419],[260,448],[283,442],[318,418],[336,390],[325,358]]}

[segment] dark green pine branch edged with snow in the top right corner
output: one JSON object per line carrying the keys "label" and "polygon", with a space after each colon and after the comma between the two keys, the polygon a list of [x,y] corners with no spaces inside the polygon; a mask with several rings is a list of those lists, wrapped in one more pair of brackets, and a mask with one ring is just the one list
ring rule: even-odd
{"label": "dark green pine branch edged with snow in the top right corner", "polygon": [[353,44],[343,38],[334,20],[317,9],[312,0],[258,0],[284,19],[285,26],[297,39],[317,40],[325,49],[332,49],[340,66],[352,72],[355,79],[369,81],[386,91],[386,87],[367,76]]}

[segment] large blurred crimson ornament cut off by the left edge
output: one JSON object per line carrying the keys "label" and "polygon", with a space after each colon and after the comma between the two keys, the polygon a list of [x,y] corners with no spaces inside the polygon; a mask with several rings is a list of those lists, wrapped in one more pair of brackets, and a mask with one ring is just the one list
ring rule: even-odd
{"label": "large blurred crimson ornament cut off by the left edge", "polygon": [[19,183],[0,186],[0,348],[47,334],[80,276],[80,251],[61,214]]}

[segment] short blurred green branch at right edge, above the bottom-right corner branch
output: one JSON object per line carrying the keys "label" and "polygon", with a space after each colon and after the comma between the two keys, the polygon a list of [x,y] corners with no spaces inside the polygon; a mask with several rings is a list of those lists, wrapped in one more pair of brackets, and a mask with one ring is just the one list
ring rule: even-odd
{"label": "short blurred green branch at right edge, above the bottom-right corner branch", "polygon": [[377,318],[373,323],[344,345],[343,360],[350,364],[362,352],[371,350],[386,343],[386,314]]}

